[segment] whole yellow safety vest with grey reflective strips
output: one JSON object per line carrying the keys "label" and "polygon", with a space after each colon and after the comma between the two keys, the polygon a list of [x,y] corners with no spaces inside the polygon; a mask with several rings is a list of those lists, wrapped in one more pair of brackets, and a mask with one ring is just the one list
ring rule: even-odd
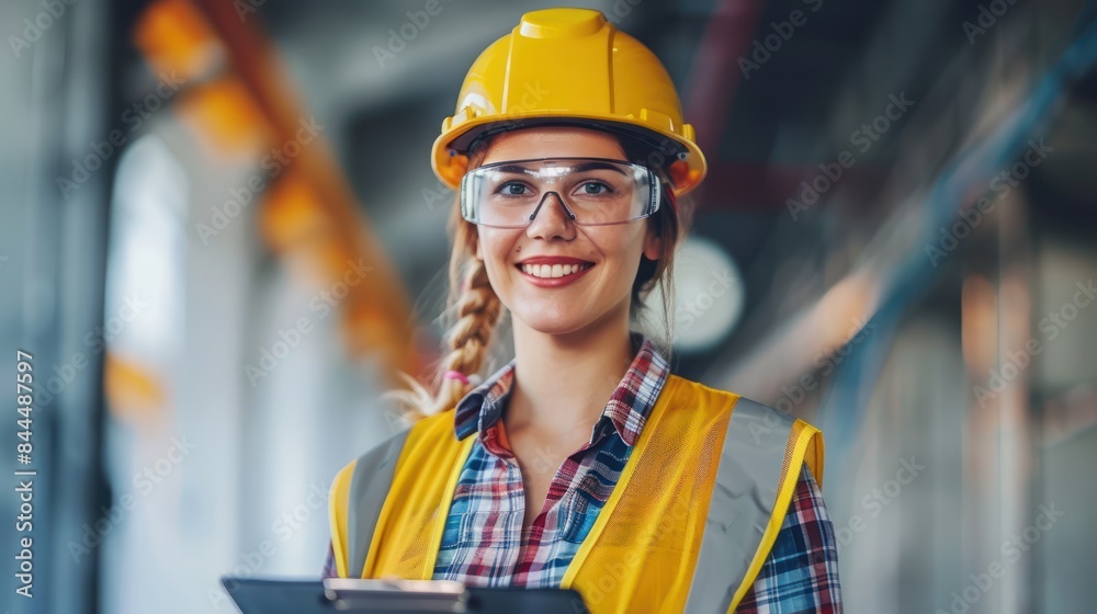
{"label": "whole yellow safety vest with grey reflective strips", "polygon": [[[351,462],[331,485],[341,578],[428,580],[475,436],[450,409]],[[591,613],[732,612],[769,555],[818,429],[670,375],[612,494],[564,575]]]}

